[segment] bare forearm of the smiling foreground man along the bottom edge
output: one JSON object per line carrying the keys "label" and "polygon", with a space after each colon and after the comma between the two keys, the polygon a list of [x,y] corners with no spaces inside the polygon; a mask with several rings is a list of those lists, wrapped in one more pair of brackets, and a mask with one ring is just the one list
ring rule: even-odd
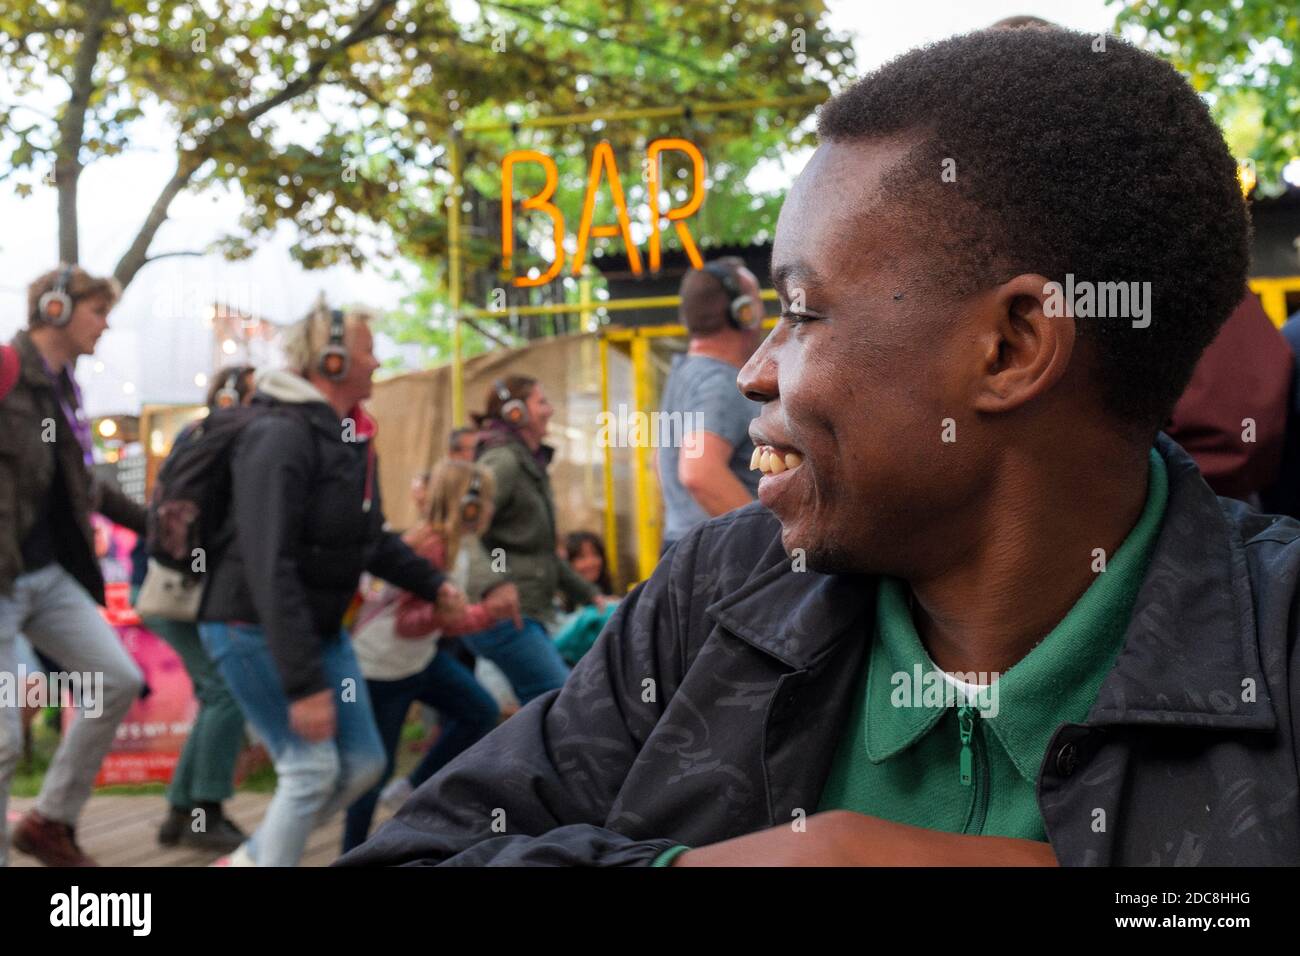
{"label": "bare forearm of the smiling foreground man along the bottom edge", "polygon": [[1057,866],[1046,843],[968,836],[894,823],[852,810],[688,849],[673,866]]}

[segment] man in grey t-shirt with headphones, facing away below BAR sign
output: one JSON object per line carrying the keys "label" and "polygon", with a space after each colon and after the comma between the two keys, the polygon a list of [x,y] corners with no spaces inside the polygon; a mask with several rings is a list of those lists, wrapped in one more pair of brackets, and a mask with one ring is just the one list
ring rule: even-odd
{"label": "man in grey t-shirt with headphones, facing away below BAR sign", "polygon": [[663,550],[699,522],[754,501],[762,477],[751,470],[749,437],[759,406],[736,388],[763,341],[758,278],[742,259],[727,256],[690,269],[680,295],[690,343],[673,359],[660,406],[660,420],[682,423],[680,441],[656,449]]}

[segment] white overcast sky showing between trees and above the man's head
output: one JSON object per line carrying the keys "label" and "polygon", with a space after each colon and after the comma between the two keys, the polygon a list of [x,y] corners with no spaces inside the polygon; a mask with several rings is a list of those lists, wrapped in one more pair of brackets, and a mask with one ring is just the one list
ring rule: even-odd
{"label": "white overcast sky showing between trees and above the man's head", "polygon": [[[458,20],[473,16],[471,0],[458,0]],[[831,25],[853,35],[858,66],[868,70],[922,43],[979,29],[1017,13],[1049,18],[1083,31],[1104,31],[1117,8],[1104,0],[829,0]],[[0,85],[3,86],[3,85]],[[65,95],[57,91],[57,96]],[[174,144],[161,124],[139,124],[133,148],[100,160],[81,178],[81,264],[108,273],[134,237],[139,224],[170,176]],[[763,178],[784,186],[802,157]],[[768,182],[763,183],[770,185]],[[199,248],[237,229],[238,196],[182,194],[151,248]],[[0,339],[8,339],[26,320],[26,284],[53,268],[57,259],[56,196],[38,187],[27,199],[0,191]],[[390,280],[394,269],[410,267],[380,261],[356,272],[335,268],[307,272],[289,259],[291,237],[281,234],[246,261],[218,256],[174,258],[146,267],[126,290],[100,339],[95,360],[83,359],[78,378],[92,415],[138,411],[140,402],[194,402],[203,390],[195,376],[211,372],[211,342],[202,310],[212,299],[234,299],[276,321],[303,315],[316,294],[332,302],[365,302],[394,307],[404,289]],[[176,320],[176,315],[185,319]]]}

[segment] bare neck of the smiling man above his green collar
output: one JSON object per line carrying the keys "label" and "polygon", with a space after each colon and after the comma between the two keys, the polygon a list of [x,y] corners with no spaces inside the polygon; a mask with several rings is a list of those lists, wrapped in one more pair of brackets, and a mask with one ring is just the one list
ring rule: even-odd
{"label": "bare neck of the smiling man above his green collar", "polygon": [[1114,557],[1145,506],[1149,462],[1134,449],[1106,451],[1091,467],[1088,455],[1034,457],[952,528],[952,541],[970,544],[910,581],[913,619],[939,667],[1005,674],[1092,584],[1095,549]]}

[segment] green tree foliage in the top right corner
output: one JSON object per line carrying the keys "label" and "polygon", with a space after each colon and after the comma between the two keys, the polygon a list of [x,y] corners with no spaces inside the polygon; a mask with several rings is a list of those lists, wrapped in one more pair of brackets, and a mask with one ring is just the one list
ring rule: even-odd
{"label": "green tree foliage in the top right corner", "polygon": [[1300,10],[1275,0],[1147,0],[1126,7],[1117,29],[1169,59],[1206,96],[1228,146],[1254,160],[1260,190],[1283,189],[1300,156]]}

